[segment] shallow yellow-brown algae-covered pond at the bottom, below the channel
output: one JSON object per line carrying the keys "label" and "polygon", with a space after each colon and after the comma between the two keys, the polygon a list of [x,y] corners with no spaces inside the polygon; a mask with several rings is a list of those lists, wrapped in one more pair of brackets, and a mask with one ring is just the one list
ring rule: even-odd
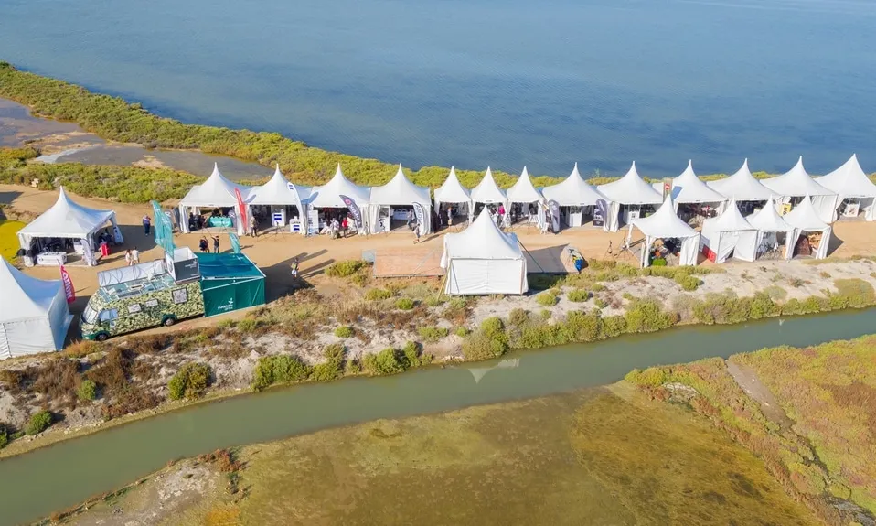
{"label": "shallow yellow-brown algae-covered pond at the bottom, below the channel", "polygon": [[244,450],[243,524],[814,524],[691,413],[593,390]]}

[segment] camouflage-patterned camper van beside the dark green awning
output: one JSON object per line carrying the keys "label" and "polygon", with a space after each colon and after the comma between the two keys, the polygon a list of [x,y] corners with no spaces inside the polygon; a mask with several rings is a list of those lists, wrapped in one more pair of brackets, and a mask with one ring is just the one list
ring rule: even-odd
{"label": "camouflage-patterned camper van beside the dark green awning", "polygon": [[204,314],[198,279],[177,283],[170,274],[101,286],[82,313],[82,338],[103,341],[126,332],[171,326]]}

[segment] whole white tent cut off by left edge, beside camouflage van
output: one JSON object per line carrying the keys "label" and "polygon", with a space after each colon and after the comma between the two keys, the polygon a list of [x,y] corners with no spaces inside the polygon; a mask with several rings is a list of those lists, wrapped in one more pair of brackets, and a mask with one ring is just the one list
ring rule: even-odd
{"label": "whole white tent cut off by left edge, beside camouflage van", "polygon": [[0,258],[0,360],[64,348],[70,316],[60,280],[41,280]]}

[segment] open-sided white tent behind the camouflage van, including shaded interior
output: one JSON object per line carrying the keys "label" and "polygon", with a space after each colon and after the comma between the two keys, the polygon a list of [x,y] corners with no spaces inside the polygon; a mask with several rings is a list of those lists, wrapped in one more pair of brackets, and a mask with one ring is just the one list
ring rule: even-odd
{"label": "open-sided white tent behind the camouflage van, including shaded interior", "polygon": [[18,231],[18,242],[27,266],[94,266],[124,239],[114,211],[85,208],[61,187],[55,204]]}

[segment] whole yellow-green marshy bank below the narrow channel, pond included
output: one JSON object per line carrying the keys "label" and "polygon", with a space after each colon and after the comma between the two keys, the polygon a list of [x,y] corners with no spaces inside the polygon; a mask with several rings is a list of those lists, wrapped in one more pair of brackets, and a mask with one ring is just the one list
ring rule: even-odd
{"label": "whole yellow-green marshy bank below the narrow channel, pond included", "polygon": [[[635,371],[607,389],[223,449],[54,517],[108,525],[512,517],[553,525],[585,517],[871,526],[866,491],[876,473],[861,460],[876,444],[849,418],[867,425],[869,398],[860,394],[874,388],[873,346],[876,337],[764,349]],[[845,425],[829,425],[833,418]],[[825,424],[812,429],[817,422]],[[829,439],[804,436],[812,431]],[[844,446],[849,434],[853,450]],[[775,447],[772,456],[763,445]],[[823,472],[820,459],[831,459],[835,472]],[[781,466],[790,475],[776,472]],[[507,503],[524,493],[539,497]]]}

